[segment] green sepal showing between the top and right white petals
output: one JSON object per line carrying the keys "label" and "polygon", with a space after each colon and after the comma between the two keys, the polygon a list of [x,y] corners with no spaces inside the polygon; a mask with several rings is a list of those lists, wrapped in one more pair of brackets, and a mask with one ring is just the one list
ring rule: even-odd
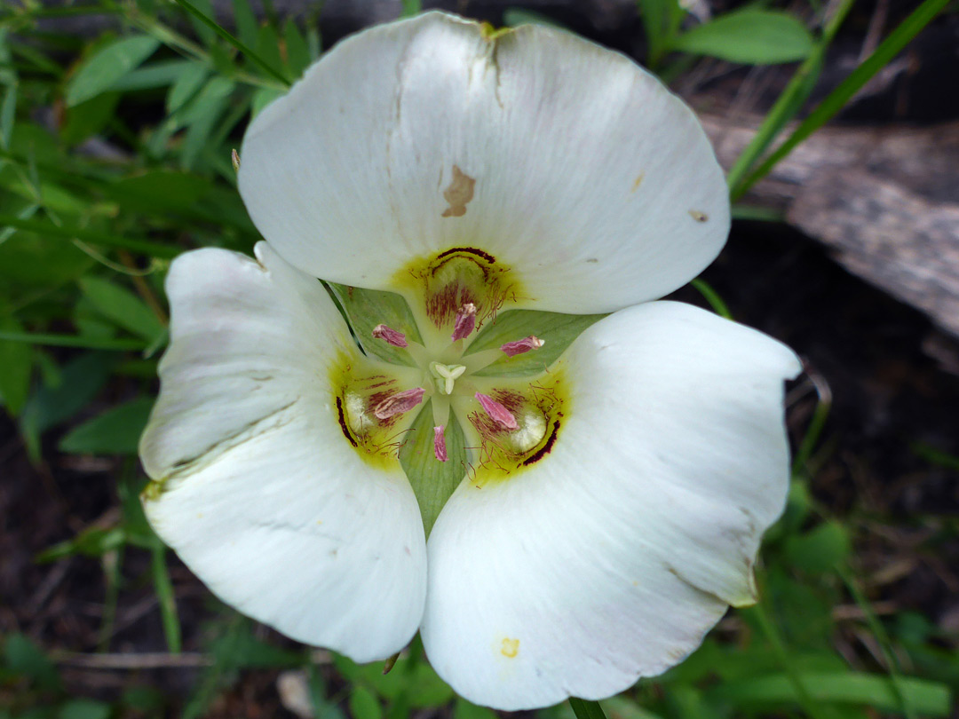
{"label": "green sepal showing between the top and right white petals", "polygon": [[535,310],[508,310],[497,315],[495,321],[488,322],[466,349],[466,355],[482,350],[501,347],[506,342],[534,335],[544,341],[538,350],[526,352],[516,357],[497,359],[476,374],[479,377],[526,377],[543,372],[566,348],[573,339],[599,321],[605,314],[561,314],[544,313]]}

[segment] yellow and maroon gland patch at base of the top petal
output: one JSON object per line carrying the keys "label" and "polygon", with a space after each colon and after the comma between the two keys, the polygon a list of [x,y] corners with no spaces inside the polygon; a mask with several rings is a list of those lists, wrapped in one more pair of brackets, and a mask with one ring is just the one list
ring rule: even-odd
{"label": "yellow and maroon gland patch at base of the top petal", "polygon": [[[477,327],[506,302],[518,297],[518,278],[509,267],[475,247],[451,247],[432,258],[415,260],[397,274],[397,284],[424,299],[426,315],[439,330],[452,333],[456,313],[476,307]],[[422,330],[423,328],[421,328]]]}

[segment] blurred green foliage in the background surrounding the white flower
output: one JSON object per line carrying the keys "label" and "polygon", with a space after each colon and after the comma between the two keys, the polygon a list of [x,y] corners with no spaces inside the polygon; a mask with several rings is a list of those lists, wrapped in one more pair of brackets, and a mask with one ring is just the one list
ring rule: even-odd
{"label": "blurred green foliage in the background surrounding the white flower", "polygon": [[[29,0],[0,9],[0,400],[37,465],[55,449],[129,457],[118,478],[115,521],[89,527],[36,558],[101,561],[109,605],[102,649],[108,648],[110,607],[123,591],[120,567],[127,552],[149,555],[145,580],[156,593],[170,651],[180,649],[167,550],[143,517],[137,498],[144,479],[132,459],[155,391],[157,356],[167,341],[162,280],[182,250],[221,246],[248,252],[256,242],[236,193],[230,150],[250,117],[320,53],[316,13],[303,22],[281,21],[268,2],[260,20],[247,0],[233,0],[226,30],[212,18],[208,0],[176,4],[96,0],[48,8]],[[863,63],[855,82],[861,86],[875,75],[889,52],[942,5],[926,0],[911,24],[891,36],[895,42],[884,43],[882,53]],[[741,194],[744,182],[771,167],[766,162],[757,174],[761,158],[807,100],[852,2],[830,4],[831,15],[818,5],[803,16],[755,6],[700,23],[690,22],[686,7],[678,0],[639,2],[647,62],[667,79],[698,55],[745,63],[802,61],[734,168],[731,186],[734,195]],[[404,8],[418,12],[419,3],[407,0]],[[115,22],[88,38],[42,25],[84,14]],[[515,9],[505,20],[544,18]],[[848,100],[843,97],[840,106]],[[816,122],[828,116],[821,112]],[[808,133],[819,126],[804,127]],[[714,290],[702,282],[696,287],[717,312],[728,314]],[[809,496],[828,411],[824,398],[797,452],[784,517],[764,548],[760,604],[732,613],[666,675],[603,702],[606,715],[949,715],[950,692],[959,689],[959,659],[942,648],[947,644],[940,630],[923,615],[874,614],[855,578],[856,527],[831,517]],[[50,440],[55,429],[61,429],[56,448]],[[942,466],[959,465],[935,448],[915,452]],[[835,608],[850,601],[858,613],[837,615]],[[854,665],[840,655],[834,644],[840,622],[870,638],[877,656]],[[380,666],[266,640],[250,621],[222,607],[211,613],[204,636],[207,643],[199,649],[208,661],[182,707],[187,718],[203,716],[222,691],[255,670],[302,670],[319,717],[397,719],[441,707],[455,719],[494,715],[456,698],[416,642],[384,675]],[[71,696],[60,680],[60,660],[30,638],[2,638],[0,719],[160,717],[175,710],[171,697],[136,682],[109,701]],[[602,715],[595,703],[539,715],[567,719],[574,713]]]}

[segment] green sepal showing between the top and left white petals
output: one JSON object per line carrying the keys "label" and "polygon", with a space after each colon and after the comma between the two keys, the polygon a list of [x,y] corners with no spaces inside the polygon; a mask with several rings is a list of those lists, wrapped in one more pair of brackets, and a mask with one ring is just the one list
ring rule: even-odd
{"label": "green sepal showing between the top and left white petals", "polygon": [[363,290],[335,282],[328,282],[326,286],[333,292],[340,309],[346,315],[346,321],[363,352],[392,364],[416,366],[405,349],[393,347],[382,339],[373,337],[373,328],[385,324],[392,330],[402,332],[407,339],[423,343],[413,313],[409,311],[409,305],[402,295],[383,290]]}

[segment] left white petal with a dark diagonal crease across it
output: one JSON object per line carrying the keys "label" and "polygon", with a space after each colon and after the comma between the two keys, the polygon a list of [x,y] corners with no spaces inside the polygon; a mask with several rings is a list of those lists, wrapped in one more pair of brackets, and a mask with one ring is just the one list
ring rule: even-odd
{"label": "left white petal with a dark diagonal crease across it", "polygon": [[382,659],[423,611],[416,499],[398,462],[371,468],[339,427],[329,367],[349,339],[326,291],[266,244],[257,258],[202,249],[171,267],[171,346],[140,446],[163,481],[147,516],[241,612]]}

